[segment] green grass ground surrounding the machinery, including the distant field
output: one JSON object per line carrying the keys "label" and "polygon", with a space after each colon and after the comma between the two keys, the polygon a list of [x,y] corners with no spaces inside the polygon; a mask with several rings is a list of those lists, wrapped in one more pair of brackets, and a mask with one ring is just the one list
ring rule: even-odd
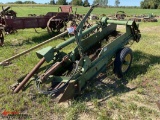
{"label": "green grass ground surrounding the machinery, including the distant field", "polygon": [[[27,16],[31,13],[56,12],[58,6],[13,6],[12,9],[17,12],[18,16]],[[79,14],[85,14],[88,10],[89,8],[77,7]],[[160,15],[159,10],[129,8],[95,8],[93,13],[109,15],[118,10],[123,10],[129,15],[135,13]],[[13,60],[9,66],[0,66],[0,119],[4,111],[18,111],[21,114],[31,115],[28,119],[35,120],[160,119],[160,110],[156,105],[156,102],[160,100],[160,21],[142,22],[139,28],[142,37],[139,43],[131,46],[133,63],[124,78],[118,80],[114,75],[106,74],[102,82],[95,79],[87,85],[82,95],[69,102],[57,104],[50,97],[39,95],[34,85],[18,94],[12,94],[9,89],[11,84],[26,75],[38,62],[36,50],[46,46],[55,46],[63,42],[63,39],[54,40],[21,56]],[[119,30],[123,31],[122,27]],[[6,35],[5,45],[0,47],[0,61],[50,38],[46,29],[37,29],[37,31],[38,33],[34,29],[24,29],[12,35]]]}

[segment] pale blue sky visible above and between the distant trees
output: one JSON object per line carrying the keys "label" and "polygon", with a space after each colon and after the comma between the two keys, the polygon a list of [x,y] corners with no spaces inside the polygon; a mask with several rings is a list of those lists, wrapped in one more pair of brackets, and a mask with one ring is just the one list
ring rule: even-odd
{"label": "pale blue sky visible above and between the distant trees", "polygon": [[[7,3],[7,2],[15,2],[18,0],[0,0],[2,3]],[[20,1],[31,1],[31,0],[20,0]],[[49,3],[50,0],[32,0],[36,3]],[[57,1],[57,0],[55,0]],[[71,0],[67,0],[67,2],[70,2]],[[88,0],[89,3],[92,5],[93,0]],[[119,0],[120,4],[119,6],[140,6],[140,2],[143,0]],[[108,0],[108,5],[114,6],[115,5],[115,0]]]}

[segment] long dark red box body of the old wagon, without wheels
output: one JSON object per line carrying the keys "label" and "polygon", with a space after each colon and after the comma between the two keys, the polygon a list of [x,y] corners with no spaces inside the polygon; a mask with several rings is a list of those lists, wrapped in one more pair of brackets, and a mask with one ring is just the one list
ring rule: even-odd
{"label": "long dark red box body of the old wagon, without wheels", "polygon": [[[54,20],[54,22],[59,22],[60,20],[66,21],[68,19],[73,19],[73,17],[70,17],[71,15],[66,12],[65,13],[48,12],[44,16],[30,16],[30,17],[16,17],[15,14],[11,14],[11,15],[10,14],[8,15],[8,14],[6,13],[5,17],[1,17],[2,20],[0,21],[0,24],[4,26],[4,30],[8,33],[11,33],[10,31],[17,30],[17,29],[46,28],[47,23],[51,20],[52,21]],[[53,26],[54,25],[52,25],[51,27],[54,28]],[[61,26],[60,29],[62,27],[63,26]]]}

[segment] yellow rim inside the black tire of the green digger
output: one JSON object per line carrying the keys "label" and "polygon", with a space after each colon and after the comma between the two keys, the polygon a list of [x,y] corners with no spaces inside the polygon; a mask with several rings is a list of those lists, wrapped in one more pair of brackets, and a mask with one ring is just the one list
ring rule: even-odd
{"label": "yellow rim inside the black tire of the green digger", "polygon": [[131,63],[131,55],[127,54],[122,63],[122,73],[126,72]]}

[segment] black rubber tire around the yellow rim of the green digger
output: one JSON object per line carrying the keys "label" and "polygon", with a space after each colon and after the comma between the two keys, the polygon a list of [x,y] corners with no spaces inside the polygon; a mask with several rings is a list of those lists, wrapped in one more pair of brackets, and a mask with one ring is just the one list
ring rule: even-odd
{"label": "black rubber tire around the yellow rim of the green digger", "polygon": [[[122,65],[124,63],[124,59],[128,54],[130,54],[130,57],[131,57],[130,63],[128,65],[128,68],[125,71],[122,71]],[[129,70],[132,63],[132,58],[133,58],[132,50],[129,47],[125,47],[117,52],[116,58],[114,61],[113,71],[118,78],[122,78],[123,75]]]}

